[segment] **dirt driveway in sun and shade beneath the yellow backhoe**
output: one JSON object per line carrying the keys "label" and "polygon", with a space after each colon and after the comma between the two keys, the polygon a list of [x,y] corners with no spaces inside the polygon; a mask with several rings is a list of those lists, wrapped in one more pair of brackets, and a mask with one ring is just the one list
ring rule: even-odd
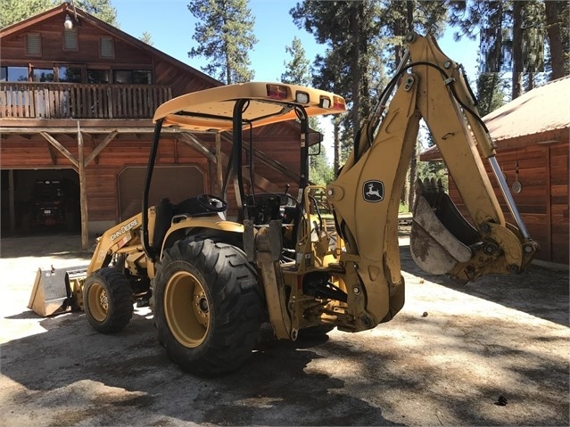
{"label": "dirt driveway in sun and shade beneath the yellow backhoe", "polygon": [[117,335],[26,308],[37,267],[77,266],[78,236],[6,238],[0,426],[568,425],[568,274],[532,267],[458,287],[401,242],[407,302],[392,322],[268,342],[238,373],[178,371],[148,309]]}

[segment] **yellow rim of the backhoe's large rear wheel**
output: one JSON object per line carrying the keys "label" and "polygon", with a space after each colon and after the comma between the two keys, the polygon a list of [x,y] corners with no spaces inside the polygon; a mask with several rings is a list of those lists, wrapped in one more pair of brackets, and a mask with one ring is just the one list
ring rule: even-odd
{"label": "yellow rim of the backhoe's large rear wheel", "polygon": [[164,316],[180,344],[194,348],[204,341],[210,325],[210,303],[194,275],[178,272],[170,277],[164,290]]}

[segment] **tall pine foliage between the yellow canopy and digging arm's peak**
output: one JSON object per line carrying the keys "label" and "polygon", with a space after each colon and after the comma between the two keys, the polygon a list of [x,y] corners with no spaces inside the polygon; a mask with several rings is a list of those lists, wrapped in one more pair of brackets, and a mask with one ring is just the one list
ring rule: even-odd
{"label": "tall pine foliage between the yellow canopy and digging arm's peak", "polygon": [[441,34],[446,8],[442,2],[419,0],[333,3],[305,0],[290,13],[299,28],[327,46],[325,55],[315,59],[313,85],[343,95],[349,104],[335,143],[340,145],[335,153],[345,160],[361,120],[399,62],[403,37],[409,29]]}

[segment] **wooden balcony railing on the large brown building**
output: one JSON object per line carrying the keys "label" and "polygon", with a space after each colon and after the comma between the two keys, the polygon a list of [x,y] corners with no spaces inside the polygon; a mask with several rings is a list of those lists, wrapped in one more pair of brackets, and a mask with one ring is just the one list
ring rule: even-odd
{"label": "wooden balcony railing on the large brown building", "polygon": [[0,117],[152,119],[169,86],[0,82]]}

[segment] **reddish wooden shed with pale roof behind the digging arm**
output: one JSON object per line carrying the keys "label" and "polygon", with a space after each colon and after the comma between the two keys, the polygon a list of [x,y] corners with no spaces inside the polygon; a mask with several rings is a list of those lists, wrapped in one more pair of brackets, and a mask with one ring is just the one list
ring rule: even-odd
{"label": "reddish wooden shed with pale roof behind the digging arm", "polygon": [[[497,144],[497,160],[516,206],[541,245],[535,258],[568,265],[570,76],[534,88],[483,121]],[[441,160],[441,156],[433,147],[420,160]],[[487,172],[508,222],[514,223],[489,165]],[[450,196],[461,209],[452,179]]]}

